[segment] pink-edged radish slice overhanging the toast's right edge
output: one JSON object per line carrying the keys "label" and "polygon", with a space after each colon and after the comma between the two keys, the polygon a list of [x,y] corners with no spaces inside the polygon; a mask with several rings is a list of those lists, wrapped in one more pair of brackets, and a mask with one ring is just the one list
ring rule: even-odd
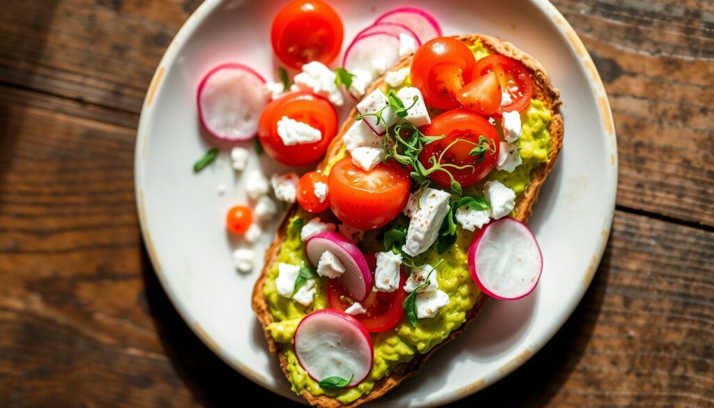
{"label": "pink-edged radish slice overhanging the toast's right edge", "polygon": [[468,269],[488,296],[521,299],[538,284],[543,254],[526,224],[502,218],[487,224],[473,238],[468,249]]}

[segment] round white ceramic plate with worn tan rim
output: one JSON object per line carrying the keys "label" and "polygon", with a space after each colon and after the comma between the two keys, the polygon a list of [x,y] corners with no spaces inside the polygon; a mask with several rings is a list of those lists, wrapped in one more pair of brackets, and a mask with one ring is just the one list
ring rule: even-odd
{"label": "round white ceramic plate with worn tan rim", "polygon": [[[390,7],[405,1],[330,1],[345,19],[346,41]],[[208,347],[246,377],[291,399],[278,360],[266,349],[251,311],[251,291],[271,240],[256,246],[256,269],[232,267],[233,242],[223,227],[232,204],[246,202],[243,181],[227,152],[198,175],[191,171],[211,144],[201,136],[196,85],[211,67],[248,64],[268,79],[272,16],[283,1],[207,0],[186,21],[156,70],[136,142],[136,197],[144,241],[171,301]],[[498,4],[498,6],[496,6]],[[535,56],[564,101],[565,142],[540,192],[531,228],[543,249],[538,289],[514,302],[491,301],[468,331],[438,351],[428,374],[410,379],[377,405],[442,404],[487,387],[543,347],[573,312],[600,262],[617,185],[617,149],[593,61],[575,31],[545,0],[411,1],[431,11],[445,34],[501,36]],[[347,44],[345,44],[347,45]],[[248,144],[252,146],[252,144]],[[278,166],[251,157],[251,168]],[[225,195],[218,184],[228,186]],[[275,225],[271,227],[271,232]]]}

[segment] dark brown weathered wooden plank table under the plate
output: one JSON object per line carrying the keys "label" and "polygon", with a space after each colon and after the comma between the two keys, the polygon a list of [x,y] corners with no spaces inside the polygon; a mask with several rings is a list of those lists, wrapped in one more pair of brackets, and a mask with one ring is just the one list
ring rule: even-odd
{"label": "dark brown weathered wooden plank table under the plate", "polygon": [[[139,111],[199,2],[2,1],[0,407],[286,403],[198,341],[139,234]],[[565,327],[466,404],[713,407],[714,2],[554,3],[613,106],[615,221]]]}

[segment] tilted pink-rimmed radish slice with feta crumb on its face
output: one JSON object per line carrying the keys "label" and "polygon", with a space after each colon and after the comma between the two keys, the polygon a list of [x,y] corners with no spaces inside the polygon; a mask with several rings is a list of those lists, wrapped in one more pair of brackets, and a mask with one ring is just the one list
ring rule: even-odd
{"label": "tilted pink-rimmed radish slice with feta crumb on its face", "polygon": [[372,290],[372,273],[359,248],[338,232],[321,232],[305,243],[305,252],[313,267],[317,267],[325,251],[332,252],[345,267],[340,279],[342,286],[356,302],[362,302]]}

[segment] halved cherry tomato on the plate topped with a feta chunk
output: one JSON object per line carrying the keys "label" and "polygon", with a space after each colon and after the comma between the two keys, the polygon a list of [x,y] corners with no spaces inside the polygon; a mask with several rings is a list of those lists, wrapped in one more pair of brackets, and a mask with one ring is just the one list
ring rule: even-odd
{"label": "halved cherry tomato on the plate topped with a feta chunk", "polygon": [[[278,121],[283,116],[319,129],[322,139],[286,146],[278,135]],[[258,138],[263,149],[268,156],[288,166],[304,166],[318,161],[336,134],[337,114],[332,104],[309,92],[294,92],[271,101],[258,120]]]}

